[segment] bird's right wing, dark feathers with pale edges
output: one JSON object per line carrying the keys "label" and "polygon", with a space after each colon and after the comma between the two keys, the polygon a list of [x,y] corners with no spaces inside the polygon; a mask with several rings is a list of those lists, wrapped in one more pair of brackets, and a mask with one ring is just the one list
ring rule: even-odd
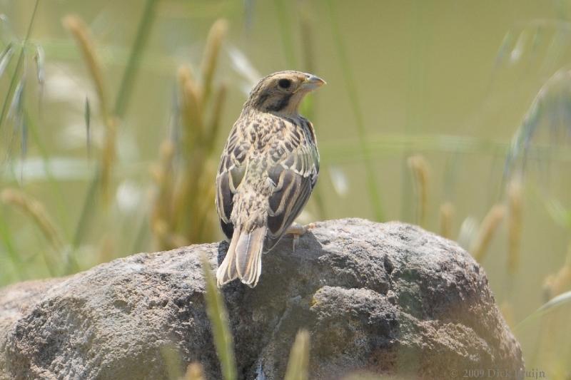
{"label": "bird's right wing, dark feathers with pale edges", "polygon": [[298,217],[317,183],[319,155],[313,143],[298,145],[268,170],[276,184],[269,198],[268,244],[271,250]]}

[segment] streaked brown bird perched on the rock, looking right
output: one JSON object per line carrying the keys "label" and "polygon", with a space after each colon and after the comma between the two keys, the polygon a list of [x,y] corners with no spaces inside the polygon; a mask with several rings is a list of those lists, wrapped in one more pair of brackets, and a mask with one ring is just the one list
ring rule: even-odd
{"label": "streaked brown bird perched on the rock, looking right", "polygon": [[262,253],[271,250],[299,215],[317,182],[313,125],[298,113],[303,97],[325,81],[280,71],[252,89],[234,123],[216,175],[216,210],[231,240],[218,267],[218,286],[240,278],[255,287]]}

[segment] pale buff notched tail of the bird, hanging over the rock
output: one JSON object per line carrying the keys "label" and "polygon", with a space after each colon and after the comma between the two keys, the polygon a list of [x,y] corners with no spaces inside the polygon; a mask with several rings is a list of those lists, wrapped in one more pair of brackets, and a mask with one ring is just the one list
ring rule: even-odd
{"label": "pale buff notched tail of the bird, hanging over the rock", "polygon": [[252,232],[242,232],[236,227],[226,257],[218,270],[218,287],[239,277],[249,287],[255,287],[262,272],[263,242],[266,227],[257,227]]}

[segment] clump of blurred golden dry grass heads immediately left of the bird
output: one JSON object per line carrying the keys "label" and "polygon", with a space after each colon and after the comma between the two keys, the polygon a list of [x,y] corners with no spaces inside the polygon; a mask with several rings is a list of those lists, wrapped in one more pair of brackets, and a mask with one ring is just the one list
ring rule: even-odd
{"label": "clump of blurred golden dry grass heads immediately left of the bird", "polygon": [[158,192],[151,227],[160,249],[211,241],[216,234],[211,212],[216,166],[211,155],[220,130],[227,88],[223,84],[214,88],[213,78],[227,29],[224,20],[212,26],[201,64],[201,78],[195,78],[188,66],[178,68],[181,112],[177,116],[181,118],[183,138],[176,142],[180,144],[176,151],[180,157],[175,161],[161,156],[161,163],[153,168]]}

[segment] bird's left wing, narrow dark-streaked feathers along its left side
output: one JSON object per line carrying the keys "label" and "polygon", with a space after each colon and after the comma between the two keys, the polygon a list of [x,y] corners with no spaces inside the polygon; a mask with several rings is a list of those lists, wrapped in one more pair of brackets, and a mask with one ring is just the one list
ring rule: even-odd
{"label": "bird's left wing, narrow dark-streaked feathers along its left side", "polygon": [[230,220],[234,194],[246,173],[246,152],[248,143],[241,138],[240,130],[234,125],[222,151],[218,174],[216,175],[216,211],[224,235],[230,240],[234,227]]}

